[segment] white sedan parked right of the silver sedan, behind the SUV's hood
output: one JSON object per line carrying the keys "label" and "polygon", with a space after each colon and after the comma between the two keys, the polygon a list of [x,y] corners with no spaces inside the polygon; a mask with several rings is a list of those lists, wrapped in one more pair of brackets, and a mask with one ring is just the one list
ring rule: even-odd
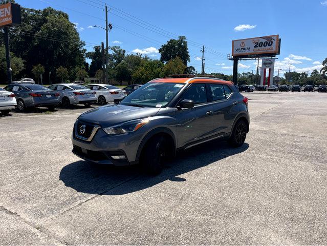
{"label": "white sedan parked right of the silver sedan, behind the SUV's hood", "polygon": [[109,102],[113,102],[115,99],[122,99],[126,96],[125,90],[111,85],[91,84],[86,87],[97,93],[96,96],[100,105],[105,105]]}

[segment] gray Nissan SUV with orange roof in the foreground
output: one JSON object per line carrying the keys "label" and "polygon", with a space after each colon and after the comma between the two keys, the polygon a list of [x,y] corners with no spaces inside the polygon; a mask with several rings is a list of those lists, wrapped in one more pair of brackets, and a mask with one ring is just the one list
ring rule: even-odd
{"label": "gray Nissan SUV with orange roof in the foreground", "polygon": [[80,115],[72,135],[73,153],[100,164],[140,163],[158,174],[178,150],[212,139],[242,146],[249,122],[248,99],[233,83],[168,76],[149,81],[118,104]]}

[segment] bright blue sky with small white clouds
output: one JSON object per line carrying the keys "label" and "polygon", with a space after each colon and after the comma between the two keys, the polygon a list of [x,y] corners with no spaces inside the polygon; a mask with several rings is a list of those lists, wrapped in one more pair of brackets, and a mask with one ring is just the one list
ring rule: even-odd
{"label": "bright blue sky with small white clouds", "polygon": [[[279,34],[281,54],[275,70],[312,72],[327,57],[327,0],[16,0],[27,8],[53,7],[69,14],[76,23],[86,49],[105,42],[103,5],[112,6],[110,45],[127,52],[142,52],[160,58],[158,49],[169,38],[184,35],[189,40],[189,65],[201,71],[200,44],[205,45],[206,72],[232,74],[232,39]],[[122,12],[123,11],[123,12]],[[130,19],[133,15],[136,18]],[[131,23],[130,21],[134,22]],[[145,26],[139,22],[145,22]],[[156,26],[155,29],[153,26]],[[239,72],[255,72],[254,60],[242,61]]]}

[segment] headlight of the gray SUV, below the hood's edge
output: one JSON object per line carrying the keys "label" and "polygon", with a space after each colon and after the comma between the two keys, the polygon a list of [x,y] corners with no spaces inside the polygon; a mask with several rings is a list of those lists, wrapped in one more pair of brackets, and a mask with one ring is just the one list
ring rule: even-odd
{"label": "headlight of the gray SUV, below the hood's edge", "polygon": [[149,118],[130,120],[130,121],[124,122],[120,125],[104,128],[103,130],[108,135],[124,134],[124,133],[128,133],[128,132],[137,131],[138,129],[143,127],[145,124],[147,124],[147,122],[149,122]]}

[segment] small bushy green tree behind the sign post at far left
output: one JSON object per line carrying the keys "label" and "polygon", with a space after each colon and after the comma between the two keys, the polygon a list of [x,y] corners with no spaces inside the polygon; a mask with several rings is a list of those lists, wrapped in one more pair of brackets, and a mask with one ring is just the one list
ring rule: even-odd
{"label": "small bushy green tree behind the sign post at far left", "polygon": [[[24,69],[24,60],[16,57],[14,53],[10,52],[11,60],[11,74],[16,77]],[[7,81],[7,61],[5,46],[0,46],[0,79],[1,81]]]}

